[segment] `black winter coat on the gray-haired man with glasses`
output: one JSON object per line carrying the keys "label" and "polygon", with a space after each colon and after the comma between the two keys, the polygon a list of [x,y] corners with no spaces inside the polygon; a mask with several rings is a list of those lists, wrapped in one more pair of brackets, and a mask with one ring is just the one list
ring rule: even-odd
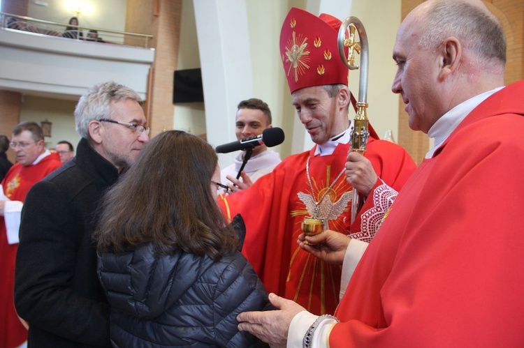
{"label": "black winter coat on the gray-haired man with glasses", "polygon": [[117,179],[116,167],[81,139],[73,160],[29,190],[15,270],[29,347],[110,346],[92,232],[99,199]]}

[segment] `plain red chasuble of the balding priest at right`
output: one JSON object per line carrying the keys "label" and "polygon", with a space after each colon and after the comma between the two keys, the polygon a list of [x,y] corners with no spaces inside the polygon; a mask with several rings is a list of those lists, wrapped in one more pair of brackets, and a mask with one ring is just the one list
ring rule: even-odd
{"label": "plain red chasuble of the balding priest at right", "polygon": [[481,103],[402,188],[330,347],[523,347],[523,96]]}

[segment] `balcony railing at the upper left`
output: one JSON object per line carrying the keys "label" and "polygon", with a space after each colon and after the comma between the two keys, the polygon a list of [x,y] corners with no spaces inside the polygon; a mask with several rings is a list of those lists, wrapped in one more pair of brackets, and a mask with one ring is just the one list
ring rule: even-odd
{"label": "balcony railing at the upper left", "polygon": [[[66,30],[67,27],[71,29]],[[39,33],[72,40],[85,40],[145,48],[149,48],[148,45],[153,38],[152,35],[147,34],[51,22],[3,12],[0,13],[0,28],[27,31],[29,33]]]}

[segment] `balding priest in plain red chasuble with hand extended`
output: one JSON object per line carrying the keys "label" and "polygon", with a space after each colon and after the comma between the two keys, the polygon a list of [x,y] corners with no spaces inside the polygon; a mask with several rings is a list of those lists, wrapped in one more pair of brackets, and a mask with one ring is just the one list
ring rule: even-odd
{"label": "balding priest in plain red chasuble with hand extended", "polygon": [[[483,1],[429,0],[407,15],[392,90],[435,146],[334,317],[270,294],[281,310],[241,313],[241,330],[272,347],[523,347],[524,81],[504,86],[506,51]],[[338,234],[306,238],[344,259]]]}

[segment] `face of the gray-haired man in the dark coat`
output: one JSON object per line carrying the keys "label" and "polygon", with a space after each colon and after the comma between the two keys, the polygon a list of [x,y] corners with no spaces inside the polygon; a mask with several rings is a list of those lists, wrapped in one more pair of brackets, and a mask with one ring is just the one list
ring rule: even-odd
{"label": "face of the gray-haired man in the dark coat", "polygon": [[[143,109],[135,100],[112,101],[110,105],[111,119],[145,126]],[[133,164],[145,144],[149,142],[147,132],[144,130],[140,133],[135,127],[118,123],[101,123],[103,156],[119,170]]]}

